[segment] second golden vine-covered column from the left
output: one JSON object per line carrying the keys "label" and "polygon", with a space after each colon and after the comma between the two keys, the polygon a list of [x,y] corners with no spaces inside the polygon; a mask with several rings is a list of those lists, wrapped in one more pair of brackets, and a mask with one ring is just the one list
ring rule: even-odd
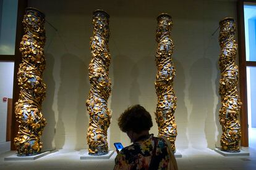
{"label": "second golden vine-covered column from the left", "polygon": [[91,89],[86,102],[90,115],[87,143],[90,155],[108,153],[107,131],[111,113],[108,109],[108,98],[111,94],[109,79],[110,54],[109,15],[103,10],[93,12],[93,37],[91,38],[92,60],[89,64]]}

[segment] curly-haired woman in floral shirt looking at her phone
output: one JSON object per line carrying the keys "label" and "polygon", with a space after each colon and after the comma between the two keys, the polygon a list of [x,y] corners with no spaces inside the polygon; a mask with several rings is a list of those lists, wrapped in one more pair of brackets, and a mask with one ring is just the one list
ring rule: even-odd
{"label": "curly-haired woman in floral shirt looking at her phone", "polygon": [[118,125],[133,144],[117,154],[114,169],[177,169],[168,140],[149,134],[153,123],[145,108],[140,105],[127,108]]}

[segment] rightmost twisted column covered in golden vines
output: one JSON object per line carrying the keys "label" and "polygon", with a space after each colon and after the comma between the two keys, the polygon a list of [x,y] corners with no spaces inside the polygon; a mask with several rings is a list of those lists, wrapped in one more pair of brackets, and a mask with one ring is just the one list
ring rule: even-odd
{"label": "rightmost twisted column covered in golden vines", "polygon": [[239,112],[242,103],[237,92],[239,78],[236,65],[237,43],[234,39],[236,24],[233,18],[220,21],[219,42],[221,47],[219,65],[221,70],[221,108],[219,113],[222,126],[221,149],[226,152],[240,152],[241,127]]}

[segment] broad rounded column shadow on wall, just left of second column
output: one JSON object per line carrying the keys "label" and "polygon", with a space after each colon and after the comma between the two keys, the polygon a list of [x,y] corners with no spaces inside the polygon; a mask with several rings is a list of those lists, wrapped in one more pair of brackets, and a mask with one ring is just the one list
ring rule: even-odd
{"label": "broad rounded column shadow on wall, just left of second column", "polygon": [[[85,147],[88,118],[85,110],[85,94],[90,88],[86,83],[85,62],[74,54],[61,57],[61,83],[58,92],[58,123],[56,126],[56,147],[63,148],[66,137],[77,142],[74,148]],[[65,123],[74,124],[66,132]],[[72,146],[70,146],[72,148]]]}

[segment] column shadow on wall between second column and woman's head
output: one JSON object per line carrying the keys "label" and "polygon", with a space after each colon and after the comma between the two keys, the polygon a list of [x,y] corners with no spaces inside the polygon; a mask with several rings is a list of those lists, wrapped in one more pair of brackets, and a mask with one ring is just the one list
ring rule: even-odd
{"label": "column shadow on wall between second column and woman's head", "polygon": [[[131,95],[129,93],[129,86],[132,83],[130,79],[130,71],[134,67],[134,62],[126,55],[116,55],[112,57],[113,63],[113,84],[111,92],[111,126],[110,126],[110,145],[113,147],[114,142],[121,141],[121,130],[117,124],[119,115],[130,105],[129,99]],[[136,67],[135,67],[136,69]],[[136,82],[134,83],[136,86]],[[128,137],[127,137],[128,138]],[[124,144],[125,146],[126,144]]]}

